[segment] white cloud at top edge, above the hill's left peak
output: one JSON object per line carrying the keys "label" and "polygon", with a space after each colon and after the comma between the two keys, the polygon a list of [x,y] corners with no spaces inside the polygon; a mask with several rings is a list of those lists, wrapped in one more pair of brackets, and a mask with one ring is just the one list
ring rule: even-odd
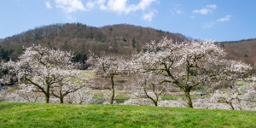
{"label": "white cloud at top edge, above the hill's left peak", "polygon": [[55,3],[57,8],[62,9],[66,13],[86,10],[81,0],[55,0]]}

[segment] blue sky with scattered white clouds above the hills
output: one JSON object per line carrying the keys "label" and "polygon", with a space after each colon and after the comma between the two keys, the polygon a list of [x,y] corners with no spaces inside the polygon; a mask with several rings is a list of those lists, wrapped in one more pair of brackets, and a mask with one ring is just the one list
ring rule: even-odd
{"label": "blue sky with scattered white clouds above the hills", "polygon": [[190,38],[256,38],[256,0],[0,0],[0,38],[38,26],[131,24]]}

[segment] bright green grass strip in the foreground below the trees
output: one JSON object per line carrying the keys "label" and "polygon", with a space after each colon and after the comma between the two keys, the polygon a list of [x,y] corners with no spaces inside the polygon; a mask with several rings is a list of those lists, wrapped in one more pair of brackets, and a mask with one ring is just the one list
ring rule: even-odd
{"label": "bright green grass strip in the foreground below the trees", "polygon": [[256,127],[256,112],[0,102],[0,127]]}

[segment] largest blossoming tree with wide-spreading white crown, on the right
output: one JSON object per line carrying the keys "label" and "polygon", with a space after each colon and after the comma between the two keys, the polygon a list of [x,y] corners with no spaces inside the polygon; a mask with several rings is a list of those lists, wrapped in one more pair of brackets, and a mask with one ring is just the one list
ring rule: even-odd
{"label": "largest blossoming tree with wide-spreading white crown, on the right", "polygon": [[141,73],[165,77],[162,83],[177,85],[184,91],[188,108],[193,108],[191,89],[220,77],[219,74],[224,76],[228,71],[243,73],[251,69],[244,63],[225,60],[224,49],[207,42],[177,43],[164,38],[159,43],[147,44],[145,49],[135,55],[134,68]]}

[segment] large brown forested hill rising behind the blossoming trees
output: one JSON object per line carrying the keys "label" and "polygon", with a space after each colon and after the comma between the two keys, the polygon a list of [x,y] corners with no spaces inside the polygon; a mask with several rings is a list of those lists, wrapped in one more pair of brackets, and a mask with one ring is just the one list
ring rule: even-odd
{"label": "large brown forested hill rising behind the blossoming trees", "polygon": [[153,28],[126,24],[93,27],[80,23],[41,26],[0,40],[2,60],[17,59],[22,46],[41,44],[54,49],[73,50],[75,54],[131,55],[143,49],[151,40],[162,37],[175,41],[187,40],[179,33],[163,32]]}

